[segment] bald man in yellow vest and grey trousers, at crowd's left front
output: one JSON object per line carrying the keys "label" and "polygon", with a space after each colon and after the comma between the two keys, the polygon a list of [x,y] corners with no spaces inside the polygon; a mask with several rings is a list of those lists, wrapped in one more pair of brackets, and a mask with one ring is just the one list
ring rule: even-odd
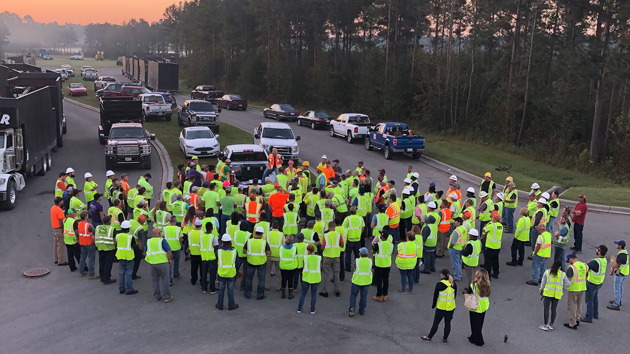
{"label": "bald man in yellow vest and grey trousers, at crowd's left front", "polygon": [[162,237],[162,229],[153,229],[152,233],[153,237],[147,239],[147,256],[144,260],[149,263],[149,270],[151,271],[153,300],[171,302],[173,301],[173,297],[171,296],[171,287],[169,286],[168,269],[171,263],[173,263],[173,253],[168,241]]}

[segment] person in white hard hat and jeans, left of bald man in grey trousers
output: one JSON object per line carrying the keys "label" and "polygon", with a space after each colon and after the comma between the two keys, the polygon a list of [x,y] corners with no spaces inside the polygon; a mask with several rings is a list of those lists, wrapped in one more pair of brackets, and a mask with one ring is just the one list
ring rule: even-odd
{"label": "person in white hard hat and jeans, left of bald man in grey trousers", "polygon": [[120,224],[122,232],[114,237],[114,246],[116,246],[116,258],[118,259],[118,290],[120,294],[133,295],[138,294],[138,290],[134,290],[134,248],[139,243],[142,246],[142,240],[137,239],[129,233],[131,223],[127,220]]}

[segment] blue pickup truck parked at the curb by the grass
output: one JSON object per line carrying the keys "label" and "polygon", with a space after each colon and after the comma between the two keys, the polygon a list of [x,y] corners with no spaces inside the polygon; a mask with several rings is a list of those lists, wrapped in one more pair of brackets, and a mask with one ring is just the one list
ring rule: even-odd
{"label": "blue pickup truck parked at the curb by the grass", "polygon": [[365,137],[365,149],[381,149],[386,159],[395,153],[410,154],[414,159],[425,152],[425,137],[413,135],[405,123],[384,122],[370,128]]}

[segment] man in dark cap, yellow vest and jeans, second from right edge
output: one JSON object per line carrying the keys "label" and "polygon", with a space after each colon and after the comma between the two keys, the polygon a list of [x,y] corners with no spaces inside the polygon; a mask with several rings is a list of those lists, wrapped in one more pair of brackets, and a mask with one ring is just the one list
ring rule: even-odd
{"label": "man in dark cap, yellow vest and jeans, second from right edge", "polygon": [[587,275],[587,292],[584,295],[584,300],[587,303],[587,313],[584,317],[580,318],[581,322],[592,323],[593,318],[599,317],[599,289],[602,288],[604,279],[606,277],[606,253],[608,248],[603,244],[600,244],[595,249],[595,255],[597,258],[590,260],[587,263],[588,275]]}

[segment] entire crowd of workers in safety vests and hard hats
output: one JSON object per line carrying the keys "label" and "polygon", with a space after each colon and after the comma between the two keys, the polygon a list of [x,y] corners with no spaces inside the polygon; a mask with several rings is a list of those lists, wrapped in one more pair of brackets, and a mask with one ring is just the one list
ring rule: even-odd
{"label": "entire crowd of workers in safety vests and hard hats", "polygon": [[[421,190],[420,176],[411,166],[406,178],[396,183],[384,169],[373,178],[362,161],[357,168],[342,171],[338,160],[326,156],[312,170],[308,161],[300,168],[289,161],[283,169],[282,156],[273,151],[265,179],[242,185],[231,176],[230,163],[219,156],[216,165],[200,165],[193,156],[179,166],[177,180],[155,195],[148,173],[134,185],[129,174],[118,179],[107,171],[101,187],[86,172],[81,189],[74,169],[67,168],[55,182],[51,208],[55,263],[78,269],[80,277],[111,284],[117,282],[111,276],[117,262],[118,290],[132,295],[138,292],[133,281],[140,278],[137,271],[144,259],[154,299],[170,302],[169,286],[181,277],[183,257],[190,261],[190,282],[200,280],[203,293],[219,293],[217,309],[224,308],[227,290],[229,310],[238,308],[234,286],[239,277],[239,288],[249,299],[256,274],[258,300],[267,296],[272,278],[283,299],[297,295],[301,280],[297,312],[302,312],[310,289],[311,314],[316,312],[318,290],[322,297],[340,297],[340,281],[349,272],[348,316],[353,317],[357,309],[358,314],[365,313],[370,285],[376,287],[372,300],[387,301],[392,258],[401,275],[397,292],[405,295],[413,294],[420,274],[437,271],[435,258],[448,256],[451,268],[438,272],[433,295],[433,326],[421,340],[431,341],[444,320],[446,343],[457,282],[465,274],[468,339],[482,346],[490,278],[499,278],[501,243],[506,234],[513,234],[507,265],[523,266],[525,248],[531,248],[527,258],[532,260],[532,277],[527,284],[539,287],[544,299],[541,329],[554,328],[556,307],[564,294],[569,312],[565,327],[578,329],[580,322],[591,323],[599,316],[598,292],[607,273],[608,249],[600,245],[593,260],[578,260],[587,214],[584,195],[575,207],[561,208],[558,191],[549,195],[534,183],[527,206],[518,210],[515,220],[518,191],[512,177],[503,190],[491,173],[484,175],[477,191],[462,191],[455,175],[445,192],[436,190],[434,182]],[[103,207],[105,200],[108,208]],[[571,241],[572,252],[566,254]],[[609,271],[615,277],[615,299],[608,308],[619,310],[629,261],[626,243],[619,240],[615,245],[618,252]],[[547,260],[552,263],[549,269]]]}

